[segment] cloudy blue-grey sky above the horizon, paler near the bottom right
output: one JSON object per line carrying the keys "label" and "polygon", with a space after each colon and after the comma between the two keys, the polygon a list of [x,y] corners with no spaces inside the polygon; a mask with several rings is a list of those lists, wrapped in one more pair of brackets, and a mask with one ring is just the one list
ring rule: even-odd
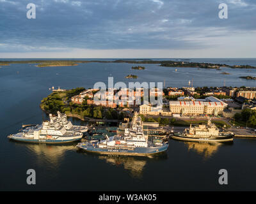
{"label": "cloudy blue-grey sky above the horizon, paler near the bottom right", "polygon": [[0,58],[256,57],[255,22],[255,0],[0,0]]}

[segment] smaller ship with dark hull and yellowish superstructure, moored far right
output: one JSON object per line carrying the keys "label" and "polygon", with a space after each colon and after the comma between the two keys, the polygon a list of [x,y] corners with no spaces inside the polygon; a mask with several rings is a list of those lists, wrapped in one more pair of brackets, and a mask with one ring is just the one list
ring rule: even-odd
{"label": "smaller ship with dark hull and yellowish superstructure, moored far right", "polygon": [[207,124],[200,124],[184,129],[183,133],[173,133],[171,136],[175,140],[185,140],[192,142],[232,142],[234,133],[220,131],[211,119],[208,119]]}

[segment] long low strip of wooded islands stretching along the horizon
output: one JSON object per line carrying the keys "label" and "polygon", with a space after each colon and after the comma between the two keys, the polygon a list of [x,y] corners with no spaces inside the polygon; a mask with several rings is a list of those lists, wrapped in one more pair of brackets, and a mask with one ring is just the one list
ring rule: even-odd
{"label": "long low strip of wooded islands stretching along the horizon", "polygon": [[[154,60],[113,60],[113,61],[79,61],[79,60],[35,60],[35,61],[0,61],[1,65],[10,64],[38,64],[37,66],[74,66],[77,63],[89,63],[89,62],[100,62],[100,63],[129,63],[129,64],[160,64],[160,66],[165,67],[175,67],[175,68],[206,68],[206,69],[220,69],[220,67],[225,68],[239,68],[239,69],[256,69],[255,66],[250,65],[227,65],[227,64],[213,64],[205,62],[188,62],[188,61],[154,61]],[[45,64],[46,63],[46,64]],[[41,64],[41,65],[40,65]]]}

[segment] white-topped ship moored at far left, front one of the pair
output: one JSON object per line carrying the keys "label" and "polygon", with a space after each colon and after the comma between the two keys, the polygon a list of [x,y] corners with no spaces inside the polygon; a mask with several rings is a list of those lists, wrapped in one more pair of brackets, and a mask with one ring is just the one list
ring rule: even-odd
{"label": "white-topped ship moored at far left, front one of the pair", "polygon": [[67,143],[79,141],[83,137],[80,131],[68,131],[60,121],[54,120],[50,114],[50,120],[45,120],[41,125],[23,129],[19,133],[9,135],[8,138],[20,142],[36,143]]}

